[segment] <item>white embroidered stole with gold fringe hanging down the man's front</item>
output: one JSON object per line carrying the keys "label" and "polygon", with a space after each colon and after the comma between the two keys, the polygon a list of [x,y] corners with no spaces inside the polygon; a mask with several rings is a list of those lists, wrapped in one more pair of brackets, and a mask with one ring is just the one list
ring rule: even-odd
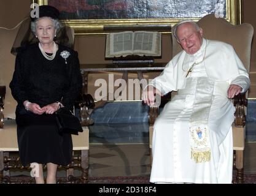
{"label": "white embroidered stole with gold fringe hanging down the man's front", "polygon": [[190,148],[191,158],[196,163],[211,160],[211,144],[209,140],[208,118],[212,105],[214,82],[206,77],[198,78],[190,116]]}

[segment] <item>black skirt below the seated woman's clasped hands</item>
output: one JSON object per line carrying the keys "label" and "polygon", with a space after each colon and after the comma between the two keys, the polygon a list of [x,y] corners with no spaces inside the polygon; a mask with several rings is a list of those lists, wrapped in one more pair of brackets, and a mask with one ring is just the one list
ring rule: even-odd
{"label": "black skirt below the seated woman's clasped hands", "polygon": [[16,117],[18,148],[22,165],[32,162],[68,165],[72,159],[71,134],[58,134],[55,114],[35,115],[25,111]]}

